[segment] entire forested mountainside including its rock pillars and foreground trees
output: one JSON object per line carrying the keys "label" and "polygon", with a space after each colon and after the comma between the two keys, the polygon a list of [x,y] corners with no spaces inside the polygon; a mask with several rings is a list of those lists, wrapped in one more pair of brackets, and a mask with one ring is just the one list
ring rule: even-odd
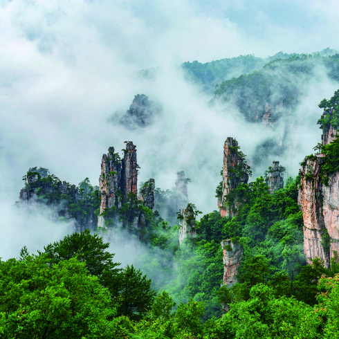
{"label": "entire forested mountainside including its rock pillars and foreground trees", "polygon": [[[315,59],[324,62],[295,57],[264,68],[285,62],[286,69],[310,75]],[[200,219],[183,172],[172,194],[152,179],[137,187],[131,141],[124,158],[113,147],[102,157],[100,190],[87,179],[76,187],[30,168],[17,207],[47,206],[58,223],[73,221],[80,232],[37,254],[23,248],[17,259],[0,261],[1,336],[338,336],[338,91],[319,107],[322,144],[295,178],[283,178],[284,163],[274,162],[253,180],[237,140],[219,145],[219,210]],[[79,225],[96,229],[91,234]],[[114,239],[133,241],[133,263],[113,262]]]}

